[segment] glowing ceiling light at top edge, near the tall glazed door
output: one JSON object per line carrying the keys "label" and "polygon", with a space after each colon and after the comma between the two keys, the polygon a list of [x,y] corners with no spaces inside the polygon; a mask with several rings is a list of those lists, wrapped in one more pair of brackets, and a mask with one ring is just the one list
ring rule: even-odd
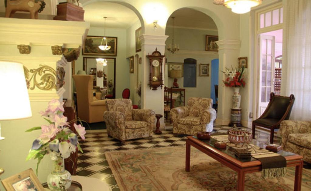
{"label": "glowing ceiling light at top edge, near the tall glazed door", "polygon": [[231,11],[237,14],[244,14],[262,3],[262,0],[214,0],[216,5],[224,5],[231,8]]}

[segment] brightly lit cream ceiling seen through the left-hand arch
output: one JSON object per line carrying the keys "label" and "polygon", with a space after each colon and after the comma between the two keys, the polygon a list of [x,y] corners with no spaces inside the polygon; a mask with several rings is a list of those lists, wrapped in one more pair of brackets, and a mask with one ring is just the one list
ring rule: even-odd
{"label": "brightly lit cream ceiling seen through the left-hand arch", "polygon": [[129,8],[110,2],[96,2],[83,7],[84,20],[91,23],[91,26],[103,27],[104,16],[106,19],[106,27],[108,28],[124,28],[127,29],[134,24],[138,17]]}

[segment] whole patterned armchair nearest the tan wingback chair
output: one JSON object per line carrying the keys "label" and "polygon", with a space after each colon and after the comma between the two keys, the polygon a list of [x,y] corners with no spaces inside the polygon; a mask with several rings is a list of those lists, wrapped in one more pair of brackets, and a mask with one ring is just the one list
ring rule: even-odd
{"label": "whole patterned armchair nearest the tan wingback chair", "polygon": [[124,142],[152,136],[156,114],[151,109],[133,109],[130,99],[107,100],[104,112],[107,134]]}

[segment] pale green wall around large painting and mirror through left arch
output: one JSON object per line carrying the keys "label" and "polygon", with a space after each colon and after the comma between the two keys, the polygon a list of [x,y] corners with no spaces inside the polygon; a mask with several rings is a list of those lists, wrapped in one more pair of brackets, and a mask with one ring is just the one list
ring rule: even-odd
{"label": "pale green wall around large painting and mirror through left arch", "polygon": [[[91,27],[88,36],[104,36],[103,27]],[[130,85],[129,64],[126,59],[127,55],[127,35],[126,29],[106,28],[107,37],[117,37],[117,56],[116,58],[116,98],[122,98],[122,91]],[[75,73],[83,69],[83,56],[92,57],[90,55],[82,55],[82,50],[75,64]],[[103,56],[93,56],[94,58]],[[112,56],[106,56],[112,57]]]}

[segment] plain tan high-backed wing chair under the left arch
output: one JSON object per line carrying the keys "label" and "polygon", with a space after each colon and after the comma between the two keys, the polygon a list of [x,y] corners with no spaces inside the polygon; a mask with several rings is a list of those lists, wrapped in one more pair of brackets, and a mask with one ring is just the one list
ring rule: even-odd
{"label": "plain tan high-backed wing chair under the left arch", "polygon": [[106,100],[98,100],[93,96],[93,76],[72,75],[72,78],[77,91],[78,118],[88,123],[104,121]]}

